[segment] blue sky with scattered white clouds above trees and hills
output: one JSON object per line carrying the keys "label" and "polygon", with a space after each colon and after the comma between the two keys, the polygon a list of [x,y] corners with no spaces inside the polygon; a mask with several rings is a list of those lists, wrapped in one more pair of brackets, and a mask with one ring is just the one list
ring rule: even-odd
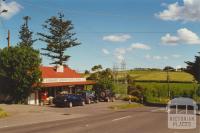
{"label": "blue sky with scattered white clouds above trees and hills", "polygon": [[[1,1],[1,0],[0,0]],[[1,1],[0,48],[19,42],[23,16],[30,16],[34,38],[44,32],[42,24],[58,12],[71,20],[81,45],[67,49],[67,64],[79,71],[101,64],[127,69],[185,67],[200,52],[199,0],[6,0]],[[45,43],[37,41],[34,48]],[[42,52],[42,51],[41,51]],[[42,64],[51,60],[42,57]]]}

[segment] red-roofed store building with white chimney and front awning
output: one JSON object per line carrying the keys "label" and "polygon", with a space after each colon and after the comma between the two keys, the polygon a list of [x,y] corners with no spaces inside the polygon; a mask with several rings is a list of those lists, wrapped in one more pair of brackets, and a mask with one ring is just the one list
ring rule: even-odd
{"label": "red-roofed store building with white chimney and front awning", "polygon": [[42,83],[41,91],[34,91],[28,98],[28,104],[39,105],[41,99],[55,97],[61,92],[76,93],[79,90],[86,89],[95,82],[88,81],[81,74],[72,70],[68,66],[41,66]]}

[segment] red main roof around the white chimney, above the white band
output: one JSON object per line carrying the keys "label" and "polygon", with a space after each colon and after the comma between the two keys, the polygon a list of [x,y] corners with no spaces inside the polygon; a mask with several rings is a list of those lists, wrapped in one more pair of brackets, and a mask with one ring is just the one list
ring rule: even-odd
{"label": "red main roof around the white chimney, above the white band", "polygon": [[64,72],[57,72],[56,67],[40,66],[42,78],[81,78],[81,74],[64,66]]}

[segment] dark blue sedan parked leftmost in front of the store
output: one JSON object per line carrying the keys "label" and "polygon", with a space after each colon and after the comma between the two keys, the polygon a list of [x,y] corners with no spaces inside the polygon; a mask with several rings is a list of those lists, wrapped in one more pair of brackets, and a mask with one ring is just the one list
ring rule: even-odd
{"label": "dark blue sedan parked leftmost in front of the store", "polygon": [[57,95],[53,99],[53,104],[57,107],[73,107],[73,106],[84,106],[85,99],[81,95],[75,94],[61,94]]}

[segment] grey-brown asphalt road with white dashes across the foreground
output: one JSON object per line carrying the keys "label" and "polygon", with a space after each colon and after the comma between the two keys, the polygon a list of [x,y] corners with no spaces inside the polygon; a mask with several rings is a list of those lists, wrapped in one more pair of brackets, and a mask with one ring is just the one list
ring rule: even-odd
{"label": "grey-brown asphalt road with white dashes across the foreground", "polygon": [[[199,119],[199,116],[197,118]],[[0,133],[199,133],[199,129],[168,129],[167,113],[163,109],[144,107],[70,120],[1,128]]]}

